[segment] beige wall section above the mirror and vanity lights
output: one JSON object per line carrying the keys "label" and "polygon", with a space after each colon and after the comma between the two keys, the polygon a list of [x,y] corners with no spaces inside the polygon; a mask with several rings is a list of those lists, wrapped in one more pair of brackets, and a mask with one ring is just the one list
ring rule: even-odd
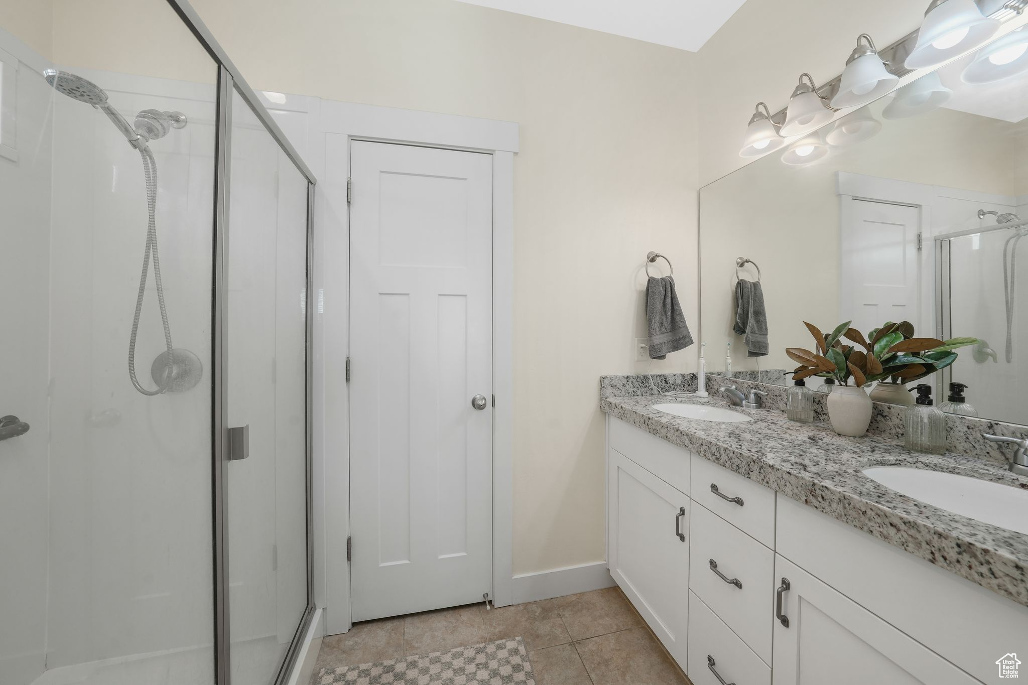
{"label": "beige wall section above the mirror and vanity lights", "polygon": [[746,0],[700,49],[699,181],[743,165],[742,137],[764,101],[777,112],[803,72],[820,85],[842,73],[861,33],[880,47],[918,27],[927,0]]}

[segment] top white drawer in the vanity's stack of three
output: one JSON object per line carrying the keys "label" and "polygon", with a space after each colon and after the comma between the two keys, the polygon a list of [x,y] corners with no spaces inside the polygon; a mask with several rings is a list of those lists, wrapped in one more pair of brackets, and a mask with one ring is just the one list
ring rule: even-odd
{"label": "top white drawer in the vanity's stack of three", "polygon": [[690,496],[774,549],[774,490],[702,457],[693,457],[692,462]]}

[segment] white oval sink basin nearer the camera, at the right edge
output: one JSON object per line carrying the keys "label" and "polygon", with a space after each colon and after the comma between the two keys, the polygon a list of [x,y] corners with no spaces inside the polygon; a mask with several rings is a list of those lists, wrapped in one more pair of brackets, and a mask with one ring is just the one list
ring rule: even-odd
{"label": "white oval sink basin nearer the camera, at the right edge", "polygon": [[865,468],[864,473],[925,504],[1028,534],[1028,490],[905,466],[873,466]]}

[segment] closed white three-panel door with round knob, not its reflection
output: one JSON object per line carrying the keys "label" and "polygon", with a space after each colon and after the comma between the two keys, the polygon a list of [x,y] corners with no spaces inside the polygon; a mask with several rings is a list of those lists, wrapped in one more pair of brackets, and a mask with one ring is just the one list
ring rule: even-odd
{"label": "closed white three-panel door with round knob, not its reflection", "polygon": [[491,593],[492,157],[355,142],[351,176],[360,621]]}

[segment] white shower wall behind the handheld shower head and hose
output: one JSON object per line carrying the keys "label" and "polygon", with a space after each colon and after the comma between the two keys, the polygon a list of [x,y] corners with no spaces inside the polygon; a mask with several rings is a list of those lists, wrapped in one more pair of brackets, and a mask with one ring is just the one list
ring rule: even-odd
{"label": "white shower wall behind the handheld shower head and hose", "polygon": [[[130,121],[146,108],[189,118],[150,148],[172,339],[207,363],[214,89],[74,70],[102,83]],[[146,240],[142,162],[106,117],[60,96],[52,105],[50,669],[209,646],[214,602],[210,370],[192,389],[158,397],[128,382]],[[136,347],[150,388],[164,349],[153,282],[151,273]]]}

